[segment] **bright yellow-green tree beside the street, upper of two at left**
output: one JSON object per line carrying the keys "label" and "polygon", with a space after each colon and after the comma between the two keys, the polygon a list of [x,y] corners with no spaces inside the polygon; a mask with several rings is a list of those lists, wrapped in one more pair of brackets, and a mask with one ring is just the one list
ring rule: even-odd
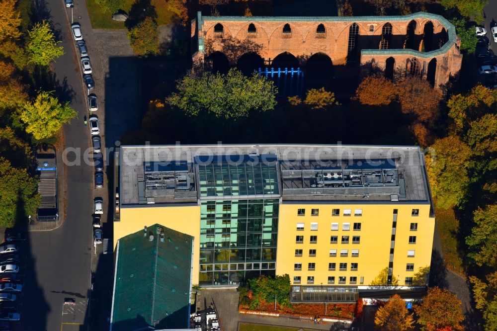
{"label": "bright yellow-green tree beside the street, upper of two at left", "polygon": [[26,54],[29,62],[35,65],[48,66],[52,60],[64,55],[64,48],[58,46],[61,42],[55,41],[55,36],[47,21],[36,23],[28,31]]}

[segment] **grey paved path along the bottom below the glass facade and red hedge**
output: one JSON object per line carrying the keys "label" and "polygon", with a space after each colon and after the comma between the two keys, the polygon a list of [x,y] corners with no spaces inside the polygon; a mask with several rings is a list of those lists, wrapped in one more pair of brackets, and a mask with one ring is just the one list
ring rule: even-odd
{"label": "grey paved path along the bottom below the glass facade and red hedge", "polygon": [[239,293],[236,289],[203,289],[199,293],[197,309],[204,310],[213,302],[219,312],[220,324],[224,331],[236,331],[241,323],[308,330],[330,330],[333,325],[333,323],[314,325],[312,322],[300,322],[288,318],[239,314],[238,298]]}

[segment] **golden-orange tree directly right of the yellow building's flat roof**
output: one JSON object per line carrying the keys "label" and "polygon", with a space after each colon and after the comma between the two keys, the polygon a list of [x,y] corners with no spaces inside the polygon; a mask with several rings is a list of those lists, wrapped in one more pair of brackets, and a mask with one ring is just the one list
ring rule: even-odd
{"label": "golden-orange tree directly right of the yellow building's flat roof", "polygon": [[431,156],[426,155],[426,168],[431,192],[438,208],[459,205],[469,183],[468,162],[471,149],[456,136],[435,140]]}

